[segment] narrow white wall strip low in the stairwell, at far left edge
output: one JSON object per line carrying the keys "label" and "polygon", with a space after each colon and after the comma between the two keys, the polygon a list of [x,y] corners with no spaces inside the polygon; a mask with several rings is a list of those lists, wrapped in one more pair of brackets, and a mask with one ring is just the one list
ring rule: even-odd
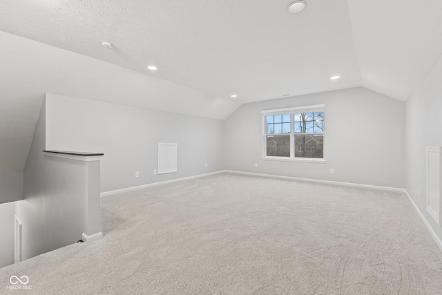
{"label": "narrow white wall strip low in the stairwell, at far left edge", "polygon": [[14,263],[15,202],[0,204],[0,267]]}

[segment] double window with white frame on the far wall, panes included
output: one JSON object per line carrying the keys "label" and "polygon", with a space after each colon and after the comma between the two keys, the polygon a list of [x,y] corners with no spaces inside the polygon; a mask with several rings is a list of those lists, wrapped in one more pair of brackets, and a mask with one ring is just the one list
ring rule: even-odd
{"label": "double window with white frame on the far wall, panes included", "polygon": [[324,104],[261,113],[264,160],[325,162]]}

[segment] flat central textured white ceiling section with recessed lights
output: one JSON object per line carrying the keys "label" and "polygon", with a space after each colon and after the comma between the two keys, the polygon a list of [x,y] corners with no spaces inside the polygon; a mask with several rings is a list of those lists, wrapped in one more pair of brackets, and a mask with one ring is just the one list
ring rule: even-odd
{"label": "flat central textured white ceiling section with recessed lights", "polygon": [[288,3],[3,0],[0,30],[242,103],[360,86],[347,1]]}

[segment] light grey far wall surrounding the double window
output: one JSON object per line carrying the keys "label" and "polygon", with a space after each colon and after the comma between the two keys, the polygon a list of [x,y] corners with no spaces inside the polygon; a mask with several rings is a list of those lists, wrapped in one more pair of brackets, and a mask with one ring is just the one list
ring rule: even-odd
{"label": "light grey far wall surrounding the double window", "polygon": [[[262,110],[325,104],[325,164],[262,160]],[[225,169],[404,187],[403,102],[366,88],[243,104],[224,124]],[[258,168],[254,167],[258,163]],[[334,174],[329,169],[334,169]]]}

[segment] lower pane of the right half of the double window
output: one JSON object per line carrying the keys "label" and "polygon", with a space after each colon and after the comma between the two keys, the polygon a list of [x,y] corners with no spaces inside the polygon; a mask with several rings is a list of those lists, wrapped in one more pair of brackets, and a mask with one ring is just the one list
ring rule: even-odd
{"label": "lower pane of the right half of the double window", "polygon": [[295,135],[296,158],[324,158],[324,135]]}

